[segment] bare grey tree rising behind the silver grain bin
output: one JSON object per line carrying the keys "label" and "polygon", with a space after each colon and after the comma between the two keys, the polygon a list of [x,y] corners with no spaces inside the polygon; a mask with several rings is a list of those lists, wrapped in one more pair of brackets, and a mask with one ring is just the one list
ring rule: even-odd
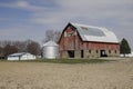
{"label": "bare grey tree rising behind the silver grain bin", "polygon": [[58,42],[60,39],[60,36],[61,36],[61,31],[59,30],[47,30],[43,42],[48,42],[50,40]]}

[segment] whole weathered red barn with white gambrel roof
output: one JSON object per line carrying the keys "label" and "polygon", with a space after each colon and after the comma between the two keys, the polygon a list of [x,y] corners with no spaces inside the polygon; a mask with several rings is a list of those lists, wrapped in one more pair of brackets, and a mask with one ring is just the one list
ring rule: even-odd
{"label": "whole weathered red barn with white gambrel roof", "polygon": [[116,36],[105,28],[68,23],[60,38],[61,58],[119,57]]}

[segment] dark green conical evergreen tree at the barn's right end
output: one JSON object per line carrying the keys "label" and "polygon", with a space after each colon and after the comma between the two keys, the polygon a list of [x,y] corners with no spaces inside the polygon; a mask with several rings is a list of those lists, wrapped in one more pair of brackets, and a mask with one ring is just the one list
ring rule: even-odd
{"label": "dark green conical evergreen tree at the barn's right end", "polygon": [[131,53],[131,48],[129,46],[129,42],[124,38],[122,39],[120,44],[120,53],[124,55],[124,57],[125,57],[125,53]]}

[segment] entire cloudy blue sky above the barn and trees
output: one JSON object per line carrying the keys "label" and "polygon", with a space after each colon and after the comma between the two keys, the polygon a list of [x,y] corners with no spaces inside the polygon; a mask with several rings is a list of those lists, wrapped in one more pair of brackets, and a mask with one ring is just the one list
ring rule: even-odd
{"label": "entire cloudy blue sky above the barn and trees", "polygon": [[133,48],[133,0],[0,0],[0,40],[42,43],[68,22],[105,27]]}

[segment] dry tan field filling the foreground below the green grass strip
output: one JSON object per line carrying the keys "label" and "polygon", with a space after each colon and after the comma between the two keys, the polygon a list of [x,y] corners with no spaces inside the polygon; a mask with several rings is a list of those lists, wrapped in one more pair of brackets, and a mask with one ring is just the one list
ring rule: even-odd
{"label": "dry tan field filling the foreground below the green grass strip", "polygon": [[0,89],[133,89],[133,59],[85,65],[1,61]]}

